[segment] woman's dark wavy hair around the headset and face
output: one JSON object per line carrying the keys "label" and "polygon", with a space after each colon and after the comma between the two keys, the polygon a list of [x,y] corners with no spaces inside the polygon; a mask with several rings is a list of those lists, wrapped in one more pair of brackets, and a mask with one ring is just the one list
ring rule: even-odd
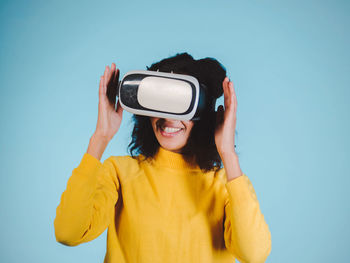
{"label": "woman's dark wavy hair around the headset and face", "polygon": [[[188,53],[178,53],[173,57],[153,63],[147,70],[173,72],[194,76],[208,87],[209,97],[215,102],[223,94],[222,82],[226,69],[214,58],[193,59]],[[214,105],[215,106],[215,105]],[[189,139],[182,149],[182,156],[189,164],[198,164],[203,171],[218,170],[222,163],[215,145],[216,114],[212,107],[207,107],[200,120],[193,121]],[[134,115],[134,129],[128,146],[133,158],[142,154],[145,159],[152,159],[159,143],[154,135],[150,118]]]}

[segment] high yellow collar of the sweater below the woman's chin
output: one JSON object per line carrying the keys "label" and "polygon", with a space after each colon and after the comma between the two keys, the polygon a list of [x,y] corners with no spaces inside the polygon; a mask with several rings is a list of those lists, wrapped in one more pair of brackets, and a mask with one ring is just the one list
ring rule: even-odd
{"label": "high yellow collar of the sweater below the woman's chin", "polygon": [[175,153],[159,147],[154,156],[154,164],[172,169],[200,170],[199,166],[189,164],[185,161],[181,153]]}

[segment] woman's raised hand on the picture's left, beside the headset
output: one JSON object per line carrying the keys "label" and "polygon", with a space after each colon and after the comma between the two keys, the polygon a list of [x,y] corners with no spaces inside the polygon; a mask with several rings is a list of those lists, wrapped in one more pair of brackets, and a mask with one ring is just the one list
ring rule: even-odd
{"label": "woman's raised hand on the picture's left, beside the headset", "polygon": [[[105,72],[100,78],[98,119],[95,135],[105,138],[107,141],[110,141],[117,133],[122,122],[123,108],[120,106],[119,101],[117,102],[117,108],[115,108],[115,104],[107,97],[107,86],[116,88],[118,79],[119,69],[116,69],[114,63],[112,63],[111,68],[106,66]],[[111,83],[114,85],[111,85]],[[116,92],[112,92],[112,94],[116,94]]]}

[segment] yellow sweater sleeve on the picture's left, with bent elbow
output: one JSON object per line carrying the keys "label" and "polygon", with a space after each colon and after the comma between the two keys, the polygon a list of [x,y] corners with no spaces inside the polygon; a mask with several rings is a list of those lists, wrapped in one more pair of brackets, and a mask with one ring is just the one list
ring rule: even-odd
{"label": "yellow sweater sleeve on the picture's left, with bent elbow", "polygon": [[109,225],[120,185],[110,158],[102,164],[85,153],[73,170],[56,209],[54,228],[58,242],[76,246],[95,239]]}

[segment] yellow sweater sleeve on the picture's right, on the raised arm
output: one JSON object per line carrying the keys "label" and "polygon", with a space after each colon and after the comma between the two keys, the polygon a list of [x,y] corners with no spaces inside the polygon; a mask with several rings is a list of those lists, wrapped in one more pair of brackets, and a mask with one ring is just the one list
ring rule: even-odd
{"label": "yellow sweater sleeve on the picture's right, on the raised arm", "polygon": [[271,252],[271,233],[251,181],[243,174],[226,182],[226,189],[226,248],[241,263],[265,262]]}

